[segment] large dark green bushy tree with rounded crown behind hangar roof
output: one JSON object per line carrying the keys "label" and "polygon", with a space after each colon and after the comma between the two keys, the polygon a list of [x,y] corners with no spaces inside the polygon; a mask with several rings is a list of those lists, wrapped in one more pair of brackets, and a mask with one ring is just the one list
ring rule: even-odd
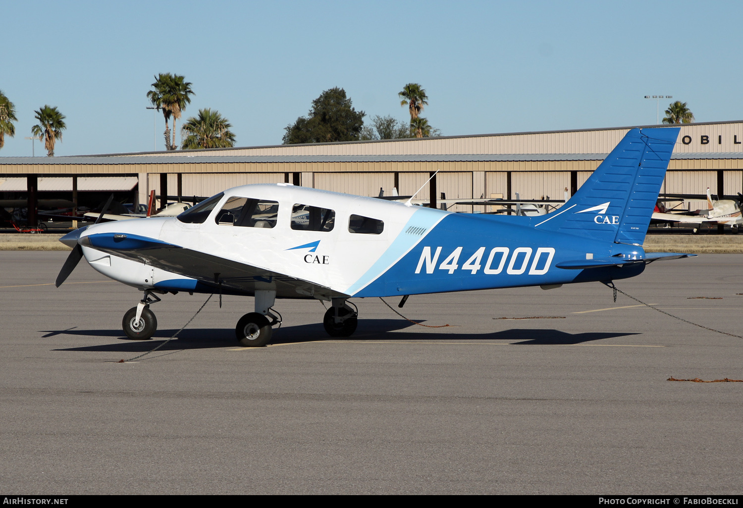
{"label": "large dark green bushy tree with rounded crown behind hangar roof", "polygon": [[312,101],[308,117],[299,117],[293,125],[286,126],[283,142],[291,145],[357,141],[365,115],[353,108],[343,88],[331,88]]}

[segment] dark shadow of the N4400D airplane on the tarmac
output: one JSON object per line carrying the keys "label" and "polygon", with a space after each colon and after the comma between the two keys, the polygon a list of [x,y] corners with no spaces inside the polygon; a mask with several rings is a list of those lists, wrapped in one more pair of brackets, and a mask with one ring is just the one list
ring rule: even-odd
{"label": "dark shadow of the N4400D airplane on the tarmac", "polygon": [[[457,333],[456,328],[430,328],[427,332],[412,333],[403,331],[413,327],[412,323],[400,319],[364,319],[359,322],[359,328],[349,340],[374,341],[374,340],[446,340],[472,341],[472,340],[507,340],[514,345],[575,345],[585,342],[593,342],[601,339],[614,337],[638,335],[638,333],[626,332],[587,332],[568,333],[562,330],[542,328],[515,328],[510,330],[499,330],[490,333]],[[129,353],[140,353],[149,351],[161,344],[165,339],[172,336],[177,329],[163,329],[155,333],[154,340],[131,340],[122,336],[121,330],[80,330],[77,327],[66,330],[43,330],[46,332],[42,338],[50,338],[58,335],[90,336],[96,338],[110,337],[117,339],[112,344],[90,345],[77,348],[59,348],[53,351],[120,351]],[[442,333],[439,330],[447,330]],[[273,344],[291,344],[293,342],[309,342],[322,340],[343,340],[343,338],[331,338],[325,333],[322,325],[297,325],[273,330]],[[232,328],[186,328],[181,331],[176,339],[169,342],[159,351],[175,351],[181,349],[204,349],[204,348],[226,348],[236,347],[239,343],[235,339],[235,331]]]}

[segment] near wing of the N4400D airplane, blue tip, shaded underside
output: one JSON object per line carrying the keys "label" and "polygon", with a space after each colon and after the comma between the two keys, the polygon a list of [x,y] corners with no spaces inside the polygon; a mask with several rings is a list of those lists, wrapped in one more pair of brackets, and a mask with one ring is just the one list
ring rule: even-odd
{"label": "near wing of the N4400D airplane, blue tip, shaded underside", "polygon": [[[104,253],[149,264],[160,270],[191,277],[204,286],[180,285],[173,288],[177,290],[208,293],[209,290],[219,290],[221,286],[225,293],[247,295],[252,295],[256,289],[276,290],[276,296],[280,298],[315,297],[329,300],[349,296],[311,281],[139,235],[98,233],[83,237],[80,244],[83,247],[93,247]],[[167,281],[161,281],[157,287],[168,289],[166,283]]]}

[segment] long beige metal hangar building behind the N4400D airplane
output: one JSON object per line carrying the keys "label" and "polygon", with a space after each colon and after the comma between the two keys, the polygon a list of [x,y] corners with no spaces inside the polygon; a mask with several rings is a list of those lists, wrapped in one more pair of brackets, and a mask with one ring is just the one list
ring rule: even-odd
{"label": "long beige metal hangar building behind the N4400D airplane", "polygon": [[[658,126],[646,126],[658,127]],[[358,195],[562,199],[573,194],[631,127],[478,134],[233,149],[142,152],[77,157],[0,157],[0,192],[134,190],[210,196],[246,183],[289,182]],[[77,177],[77,178],[72,178]],[[106,178],[102,178],[106,177]],[[104,182],[105,180],[105,182]],[[96,183],[98,182],[98,183]],[[100,183],[100,185],[99,185]],[[743,192],[743,120],[681,126],[663,192]],[[35,199],[35,198],[31,198]],[[699,206],[701,207],[701,206]],[[450,208],[451,209],[451,208]],[[485,211],[483,206],[476,211]],[[458,206],[455,211],[472,211]]]}

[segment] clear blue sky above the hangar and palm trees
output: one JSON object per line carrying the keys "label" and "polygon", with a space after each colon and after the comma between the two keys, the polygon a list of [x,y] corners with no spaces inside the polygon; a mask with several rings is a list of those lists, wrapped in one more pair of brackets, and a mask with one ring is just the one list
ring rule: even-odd
{"label": "clear blue sky above the hangar and palm trees", "polygon": [[[30,156],[45,104],[67,117],[56,155],[151,151],[160,72],[192,82],[184,117],[217,109],[237,146],[281,143],[334,86],[368,117],[405,120],[409,82],[444,135],[655,123],[646,94],[699,122],[741,120],[742,14],[739,1],[6,1],[0,90],[19,122],[0,156]],[[158,114],[158,150],[163,129]]]}

